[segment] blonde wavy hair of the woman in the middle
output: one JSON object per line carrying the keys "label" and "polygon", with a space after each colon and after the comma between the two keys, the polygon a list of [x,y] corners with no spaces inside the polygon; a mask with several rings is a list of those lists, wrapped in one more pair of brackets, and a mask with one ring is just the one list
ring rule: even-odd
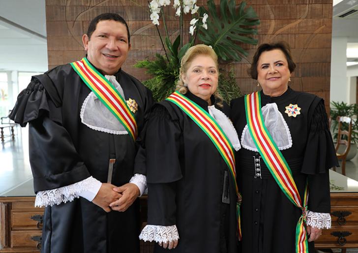
{"label": "blonde wavy hair of the woman in the middle", "polygon": [[[211,57],[211,59],[214,60],[214,63],[215,63],[216,69],[217,69],[217,74],[219,74],[219,63],[217,62],[217,55],[211,47],[204,45],[204,44],[198,44],[196,46],[189,48],[186,51],[183,58],[181,58],[180,70],[179,70],[179,80],[177,82],[177,87],[175,89],[176,91],[179,91],[179,93],[181,93],[181,94],[186,94],[188,92],[188,88],[186,86],[184,86],[184,81],[182,80],[182,75],[184,75],[186,73],[191,62],[199,55]],[[216,99],[216,104],[219,105],[220,107],[222,107],[223,106],[223,98],[219,94],[218,89],[216,89],[216,91],[213,95]]]}

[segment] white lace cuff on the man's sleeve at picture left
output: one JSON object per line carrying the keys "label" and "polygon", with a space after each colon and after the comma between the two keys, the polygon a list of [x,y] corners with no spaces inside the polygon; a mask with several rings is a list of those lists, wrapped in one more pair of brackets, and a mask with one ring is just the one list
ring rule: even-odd
{"label": "white lace cuff on the man's sleeve at picture left", "polygon": [[55,204],[59,205],[60,203],[73,201],[75,198],[80,197],[80,192],[87,190],[96,182],[96,179],[89,177],[69,186],[38,191],[35,199],[35,207],[53,206]]}

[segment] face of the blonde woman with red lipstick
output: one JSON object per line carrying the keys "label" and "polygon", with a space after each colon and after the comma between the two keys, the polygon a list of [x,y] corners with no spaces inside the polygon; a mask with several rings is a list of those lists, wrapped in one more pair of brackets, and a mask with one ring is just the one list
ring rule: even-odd
{"label": "face of the blonde woman with red lipstick", "polygon": [[198,55],[190,63],[181,79],[192,94],[210,103],[210,96],[217,89],[218,77],[214,60],[207,55]]}

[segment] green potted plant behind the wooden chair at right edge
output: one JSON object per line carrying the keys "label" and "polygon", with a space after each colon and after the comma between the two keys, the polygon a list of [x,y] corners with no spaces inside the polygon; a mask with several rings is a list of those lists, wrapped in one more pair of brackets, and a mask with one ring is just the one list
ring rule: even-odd
{"label": "green potted plant behind the wooden chair at right edge", "polygon": [[[352,137],[351,137],[351,149],[348,153],[346,160],[351,160],[357,154],[357,143],[358,143],[358,105],[357,104],[347,104],[345,102],[331,102],[330,108],[330,117],[331,124],[330,130],[333,136],[333,142],[337,142],[338,134],[338,122],[336,121],[338,116],[346,116],[352,119]],[[343,130],[348,130],[348,123],[343,122]],[[338,149],[338,153],[343,152],[344,146]]]}

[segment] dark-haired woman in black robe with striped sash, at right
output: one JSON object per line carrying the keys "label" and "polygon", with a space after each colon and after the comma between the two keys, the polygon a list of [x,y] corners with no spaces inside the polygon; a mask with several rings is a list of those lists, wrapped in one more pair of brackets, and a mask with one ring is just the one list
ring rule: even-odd
{"label": "dark-haired woman in black robe with striped sash, at right", "polygon": [[295,67],[285,43],[260,45],[249,72],[262,91],[231,103],[245,253],[313,253],[331,224],[328,169],[338,163],[325,105],[289,87]]}

